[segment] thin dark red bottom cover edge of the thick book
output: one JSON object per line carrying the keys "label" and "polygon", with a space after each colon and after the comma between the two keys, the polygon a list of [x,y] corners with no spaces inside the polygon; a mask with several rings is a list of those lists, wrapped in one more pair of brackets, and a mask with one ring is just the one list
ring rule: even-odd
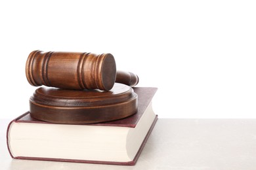
{"label": "thin dark red bottom cover edge of the thick book", "polygon": [[[140,153],[142,152],[144,145],[146,144],[146,141],[148,141],[148,137],[150,136],[152,130],[154,129],[154,126],[158,120],[158,115],[156,114],[156,117],[154,118],[154,121],[152,122],[150,129],[148,129],[148,133],[146,133],[146,136],[144,137],[144,140],[142,141],[142,144],[140,145],[140,148],[135,155],[135,158],[133,161],[93,161],[93,160],[70,160],[70,159],[60,159],[60,158],[35,158],[35,157],[26,157],[26,156],[18,156],[13,157],[10,150],[10,154],[12,158],[18,159],[18,160],[38,160],[38,161],[64,161],[64,162],[73,162],[73,163],[94,163],[94,164],[105,164],[105,165],[135,165],[137,163],[137,160],[139,159]],[[13,121],[12,121],[13,122]],[[11,123],[10,123],[11,124]],[[8,143],[8,141],[7,141]]]}

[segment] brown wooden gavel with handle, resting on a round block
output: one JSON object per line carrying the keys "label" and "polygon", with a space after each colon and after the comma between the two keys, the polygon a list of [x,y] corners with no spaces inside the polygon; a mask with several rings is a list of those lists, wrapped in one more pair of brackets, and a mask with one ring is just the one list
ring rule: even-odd
{"label": "brown wooden gavel with handle, resting on a round block", "polygon": [[79,52],[30,53],[26,62],[26,77],[32,86],[50,86],[73,90],[111,90],[114,82],[135,86],[137,75],[116,71],[112,54]]}

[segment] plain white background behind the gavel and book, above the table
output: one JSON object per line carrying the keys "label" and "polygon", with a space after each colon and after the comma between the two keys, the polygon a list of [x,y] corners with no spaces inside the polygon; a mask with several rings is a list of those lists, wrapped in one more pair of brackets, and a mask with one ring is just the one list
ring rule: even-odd
{"label": "plain white background behind the gavel and book, above the table", "polygon": [[256,118],[255,1],[0,1],[0,118],[29,109],[33,50],[111,53],[160,118]]}

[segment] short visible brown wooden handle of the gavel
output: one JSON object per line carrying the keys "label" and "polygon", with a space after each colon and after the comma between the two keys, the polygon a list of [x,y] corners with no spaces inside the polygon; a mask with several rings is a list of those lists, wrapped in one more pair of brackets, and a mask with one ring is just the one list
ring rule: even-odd
{"label": "short visible brown wooden handle of the gavel", "polygon": [[116,82],[133,87],[139,83],[139,77],[131,72],[117,71]]}

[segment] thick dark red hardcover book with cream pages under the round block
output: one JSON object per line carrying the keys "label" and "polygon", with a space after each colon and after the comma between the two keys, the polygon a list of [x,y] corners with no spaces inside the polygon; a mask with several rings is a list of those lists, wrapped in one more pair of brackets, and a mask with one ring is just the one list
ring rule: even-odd
{"label": "thick dark red hardcover book with cream pages under the round block", "polygon": [[12,158],[135,165],[158,115],[152,109],[157,88],[134,88],[138,112],[112,122],[54,124],[30,116],[12,120],[7,147]]}

